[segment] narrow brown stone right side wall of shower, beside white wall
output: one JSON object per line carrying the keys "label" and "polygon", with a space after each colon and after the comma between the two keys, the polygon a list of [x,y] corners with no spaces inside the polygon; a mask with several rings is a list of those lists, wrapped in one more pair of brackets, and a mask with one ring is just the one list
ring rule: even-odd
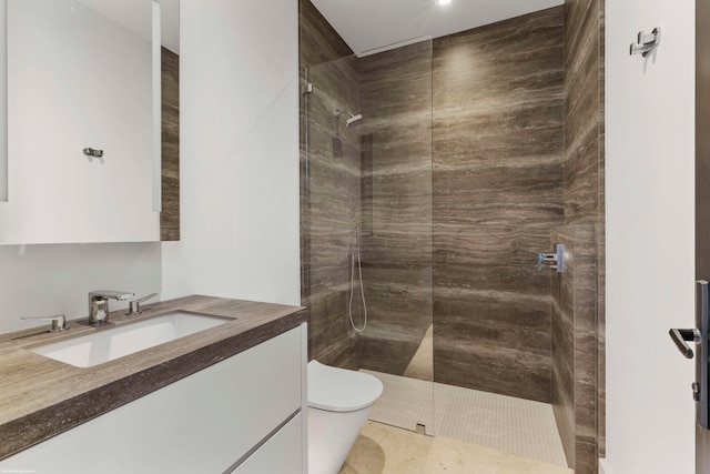
{"label": "narrow brown stone right side wall of shower, beside white wall", "polygon": [[[605,453],[604,12],[605,0],[568,0],[565,4],[565,222],[589,224],[596,242],[589,255],[596,272],[595,292],[585,293],[584,305],[579,301],[575,305],[574,334],[579,344],[575,353],[584,347],[586,354],[585,364],[575,367],[581,384],[576,393],[577,472],[597,472],[596,457]],[[588,376],[592,369],[595,377]]]}

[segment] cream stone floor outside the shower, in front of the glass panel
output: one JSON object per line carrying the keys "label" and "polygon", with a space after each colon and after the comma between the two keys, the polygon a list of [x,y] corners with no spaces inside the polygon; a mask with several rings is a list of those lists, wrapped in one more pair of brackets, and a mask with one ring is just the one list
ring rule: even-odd
{"label": "cream stone floor outside the shower, in front of the glass panel", "polygon": [[368,421],[339,474],[574,474],[446,436],[425,436]]}

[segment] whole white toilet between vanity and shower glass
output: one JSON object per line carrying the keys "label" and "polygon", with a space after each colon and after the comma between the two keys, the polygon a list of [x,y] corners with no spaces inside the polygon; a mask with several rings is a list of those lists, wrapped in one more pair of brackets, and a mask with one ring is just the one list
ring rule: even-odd
{"label": "whole white toilet between vanity and shower glass", "polygon": [[337,474],[382,389],[372,375],[308,362],[308,474]]}

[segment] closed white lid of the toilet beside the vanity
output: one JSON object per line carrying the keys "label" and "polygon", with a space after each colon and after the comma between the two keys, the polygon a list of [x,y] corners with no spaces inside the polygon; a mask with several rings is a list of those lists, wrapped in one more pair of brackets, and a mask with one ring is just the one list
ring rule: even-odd
{"label": "closed white lid of the toilet beside the vanity", "polygon": [[382,382],[362,372],[308,362],[308,406],[329,412],[353,412],[372,405]]}

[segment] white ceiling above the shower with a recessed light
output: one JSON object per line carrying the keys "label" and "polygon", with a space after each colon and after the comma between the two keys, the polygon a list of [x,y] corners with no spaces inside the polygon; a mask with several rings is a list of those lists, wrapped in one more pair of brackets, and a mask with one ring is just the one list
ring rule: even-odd
{"label": "white ceiling above the shower with a recessed light", "polygon": [[312,0],[358,57],[468,30],[564,0]]}

